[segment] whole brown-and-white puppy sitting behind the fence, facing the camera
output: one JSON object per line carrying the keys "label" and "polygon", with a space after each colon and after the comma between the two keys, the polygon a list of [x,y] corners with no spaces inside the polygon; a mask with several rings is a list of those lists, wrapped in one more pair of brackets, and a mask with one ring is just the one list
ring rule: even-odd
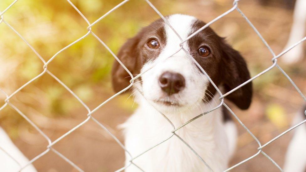
{"label": "whole brown-and-white puppy sitting behind the fence, facing the camera", "polygon": [[[186,39],[205,25],[195,17],[173,14],[166,17],[173,29]],[[133,91],[139,107],[124,122],[125,147],[135,157],[169,138],[173,127],[220,104],[218,93],[194,60],[207,72],[212,81],[228,92],[250,79],[246,62],[240,53],[206,28],[187,40],[182,46],[188,52],[178,51],[180,39],[159,19],[143,28],[121,47],[118,58],[132,74],[146,71],[135,81],[139,91]],[[172,55],[172,56],[171,56]],[[169,57],[171,56],[171,57]],[[149,70],[148,70],[149,69]],[[129,74],[115,61],[112,69],[113,89],[119,92],[130,85]],[[137,89],[136,89],[137,90]],[[252,83],[225,97],[240,109],[251,104]],[[228,168],[235,150],[237,130],[224,108],[218,108],[175,132],[209,165],[213,171]],[[130,164],[126,153],[126,165]],[[208,171],[208,167],[185,143],[173,136],[133,163],[144,171]],[[140,171],[130,165],[126,171]]]}

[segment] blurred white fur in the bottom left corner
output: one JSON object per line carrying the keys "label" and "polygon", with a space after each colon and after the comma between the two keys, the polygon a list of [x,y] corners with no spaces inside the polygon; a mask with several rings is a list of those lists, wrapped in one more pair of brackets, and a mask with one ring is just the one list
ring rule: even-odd
{"label": "blurred white fur in the bottom left corner", "polygon": [[[0,127],[0,147],[10,154],[21,166],[28,164],[29,160],[14,145],[8,135]],[[17,172],[20,166],[6,153],[0,150],[0,171]],[[35,172],[36,169],[32,164],[27,166],[22,172]]]}

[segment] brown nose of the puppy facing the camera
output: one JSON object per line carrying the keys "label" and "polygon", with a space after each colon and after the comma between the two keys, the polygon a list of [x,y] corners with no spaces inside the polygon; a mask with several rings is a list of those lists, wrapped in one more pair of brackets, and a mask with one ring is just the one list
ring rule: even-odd
{"label": "brown nose of the puppy facing the camera", "polygon": [[159,85],[170,96],[178,93],[185,87],[185,79],[179,73],[164,72],[159,77]]}

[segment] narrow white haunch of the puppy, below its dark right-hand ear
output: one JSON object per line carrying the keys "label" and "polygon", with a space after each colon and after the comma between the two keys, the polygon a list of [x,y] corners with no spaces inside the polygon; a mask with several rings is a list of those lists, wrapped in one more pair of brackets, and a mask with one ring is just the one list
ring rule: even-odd
{"label": "narrow white haunch of the puppy, below its dark right-hand ear", "polygon": [[224,129],[226,136],[228,138],[229,157],[232,157],[233,154],[235,153],[236,142],[238,137],[237,127],[233,121],[229,120],[224,123]]}

